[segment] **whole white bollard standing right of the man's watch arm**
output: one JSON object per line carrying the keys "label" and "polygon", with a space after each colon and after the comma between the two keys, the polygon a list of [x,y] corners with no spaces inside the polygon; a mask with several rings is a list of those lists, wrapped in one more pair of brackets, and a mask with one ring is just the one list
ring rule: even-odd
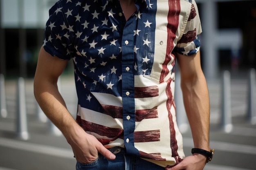
{"label": "whole white bollard standing right of the man's watch arm", "polygon": [[231,132],[233,129],[231,117],[231,85],[229,71],[224,71],[222,73],[221,128],[226,133]]}

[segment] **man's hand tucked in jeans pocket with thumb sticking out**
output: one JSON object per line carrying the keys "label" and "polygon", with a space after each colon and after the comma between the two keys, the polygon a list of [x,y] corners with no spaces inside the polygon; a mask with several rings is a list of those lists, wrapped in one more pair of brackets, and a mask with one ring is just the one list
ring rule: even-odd
{"label": "man's hand tucked in jeans pocket with thumb sticking out", "polygon": [[90,163],[98,158],[98,153],[113,160],[115,155],[106,149],[93,135],[89,135],[83,129],[70,133],[71,137],[66,137],[72,147],[76,160],[80,163]]}

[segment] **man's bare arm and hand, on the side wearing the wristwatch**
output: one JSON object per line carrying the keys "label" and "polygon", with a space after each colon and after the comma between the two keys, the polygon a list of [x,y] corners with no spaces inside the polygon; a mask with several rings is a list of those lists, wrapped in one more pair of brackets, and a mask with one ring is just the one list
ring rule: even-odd
{"label": "man's bare arm and hand, on the side wearing the wristwatch", "polygon": [[[201,68],[200,52],[190,56],[177,54],[177,62],[181,76],[180,86],[186,114],[191,126],[194,148],[210,151],[209,92]],[[194,153],[173,167],[172,170],[202,170],[207,159],[204,155]]]}

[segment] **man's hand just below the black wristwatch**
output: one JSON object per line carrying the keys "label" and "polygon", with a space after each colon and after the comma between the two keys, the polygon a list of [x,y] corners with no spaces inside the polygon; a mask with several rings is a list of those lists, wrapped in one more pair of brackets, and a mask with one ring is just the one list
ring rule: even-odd
{"label": "man's hand just below the black wristwatch", "polygon": [[194,155],[185,157],[179,164],[166,170],[202,170],[206,163],[206,157],[195,153]]}

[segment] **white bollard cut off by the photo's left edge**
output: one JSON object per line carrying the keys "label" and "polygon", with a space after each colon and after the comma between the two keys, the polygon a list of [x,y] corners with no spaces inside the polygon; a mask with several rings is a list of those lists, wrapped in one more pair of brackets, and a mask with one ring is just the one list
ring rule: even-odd
{"label": "white bollard cut off by the photo's left edge", "polygon": [[0,116],[7,117],[4,75],[0,74]]}

